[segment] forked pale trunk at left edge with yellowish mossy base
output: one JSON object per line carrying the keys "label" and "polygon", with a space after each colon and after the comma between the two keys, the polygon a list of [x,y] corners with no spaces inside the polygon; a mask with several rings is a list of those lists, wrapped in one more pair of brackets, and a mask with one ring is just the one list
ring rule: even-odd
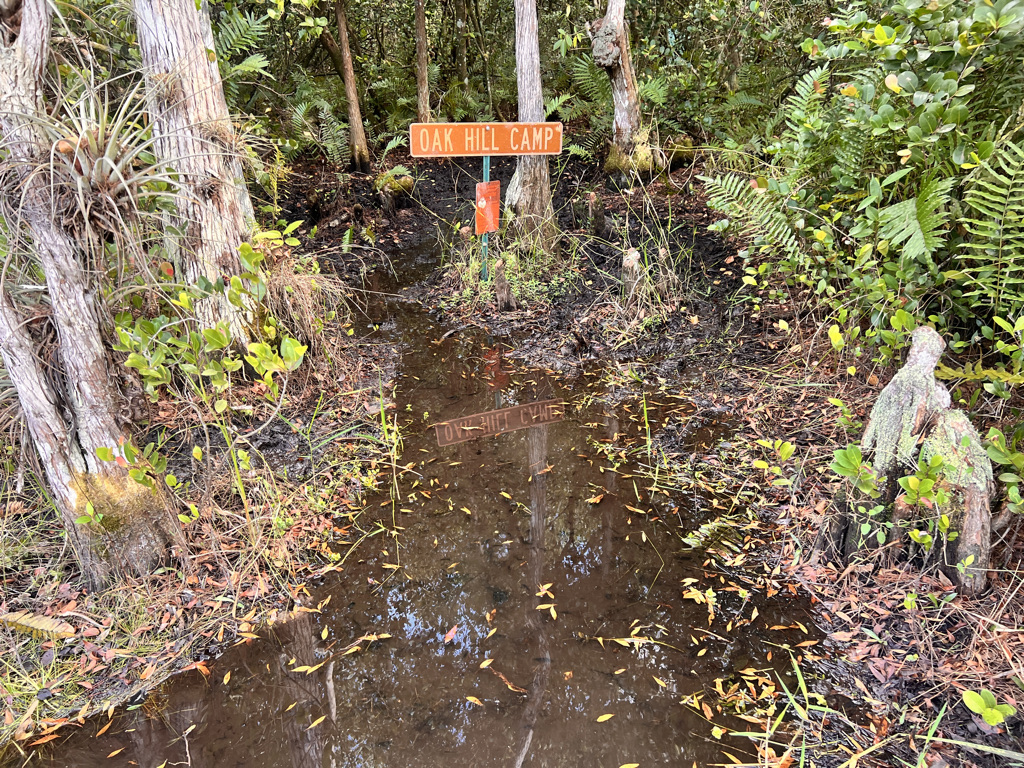
{"label": "forked pale trunk at left edge with yellowish mossy base", "polygon": [[[68,540],[83,572],[98,586],[120,571],[147,571],[182,537],[158,494],[131,479],[125,467],[97,456],[100,449],[123,456],[127,435],[119,426],[120,393],[102,340],[97,292],[83,267],[84,254],[53,219],[53,187],[45,172],[50,147],[38,130],[47,119],[41,83],[51,12],[46,0],[26,0],[12,43],[0,45],[0,155],[6,154],[20,176],[18,209],[6,218],[20,226],[46,278],[67,418],[6,293],[0,295],[0,354]],[[89,504],[98,523],[79,524]]]}

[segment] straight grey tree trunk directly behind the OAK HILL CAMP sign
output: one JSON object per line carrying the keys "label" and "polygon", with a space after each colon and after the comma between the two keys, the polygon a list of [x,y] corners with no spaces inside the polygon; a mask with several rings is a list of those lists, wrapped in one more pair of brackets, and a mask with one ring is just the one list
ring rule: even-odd
{"label": "straight grey tree trunk directly behind the OAK HILL CAMP sign", "polygon": [[[545,115],[537,0],[515,0],[515,62],[519,121],[542,123]],[[520,157],[516,173],[519,176],[519,195],[513,202],[518,225],[534,248],[546,250],[555,238],[547,156]]]}

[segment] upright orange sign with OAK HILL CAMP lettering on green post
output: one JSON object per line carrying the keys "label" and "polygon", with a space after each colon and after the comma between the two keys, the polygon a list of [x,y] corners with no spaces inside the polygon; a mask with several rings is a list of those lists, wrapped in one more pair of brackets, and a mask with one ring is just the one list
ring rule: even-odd
{"label": "upright orange sign with OAK HILL CAMP lettering on green post", "polygon": [[413,123],[409,147],[414,158],[558,155],[562,124]]}

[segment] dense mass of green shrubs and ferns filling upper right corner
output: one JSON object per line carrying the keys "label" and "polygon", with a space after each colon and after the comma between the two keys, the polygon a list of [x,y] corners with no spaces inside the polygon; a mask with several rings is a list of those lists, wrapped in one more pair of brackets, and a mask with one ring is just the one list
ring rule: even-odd
{"label": "dense mass of green shrubs and ferns filling upper right corner", "polygon": [[826,22],[756,156],[707,179],[713,205],[780,256],[749,282],[777,269],[835,313],[837,347],[888,357],[930,323],[954,349],[992,342],[1015,377],[1024,6],[858,2]]}

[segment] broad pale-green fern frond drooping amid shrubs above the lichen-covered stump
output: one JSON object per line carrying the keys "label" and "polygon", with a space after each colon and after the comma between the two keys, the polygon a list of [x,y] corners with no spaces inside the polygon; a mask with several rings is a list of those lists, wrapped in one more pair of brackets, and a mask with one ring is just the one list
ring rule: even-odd
{"label": "broad pale-green fern frond drooping amid shrubs above the lichen-covered stump", "polygon": [[880,234],[893,246],[902,245],[902,258],[924,261],[937,272],[934,254],[945,243],[945,224],[949,218],[946,203],[952,179],[925,179],[916,197],[879,211]]}

